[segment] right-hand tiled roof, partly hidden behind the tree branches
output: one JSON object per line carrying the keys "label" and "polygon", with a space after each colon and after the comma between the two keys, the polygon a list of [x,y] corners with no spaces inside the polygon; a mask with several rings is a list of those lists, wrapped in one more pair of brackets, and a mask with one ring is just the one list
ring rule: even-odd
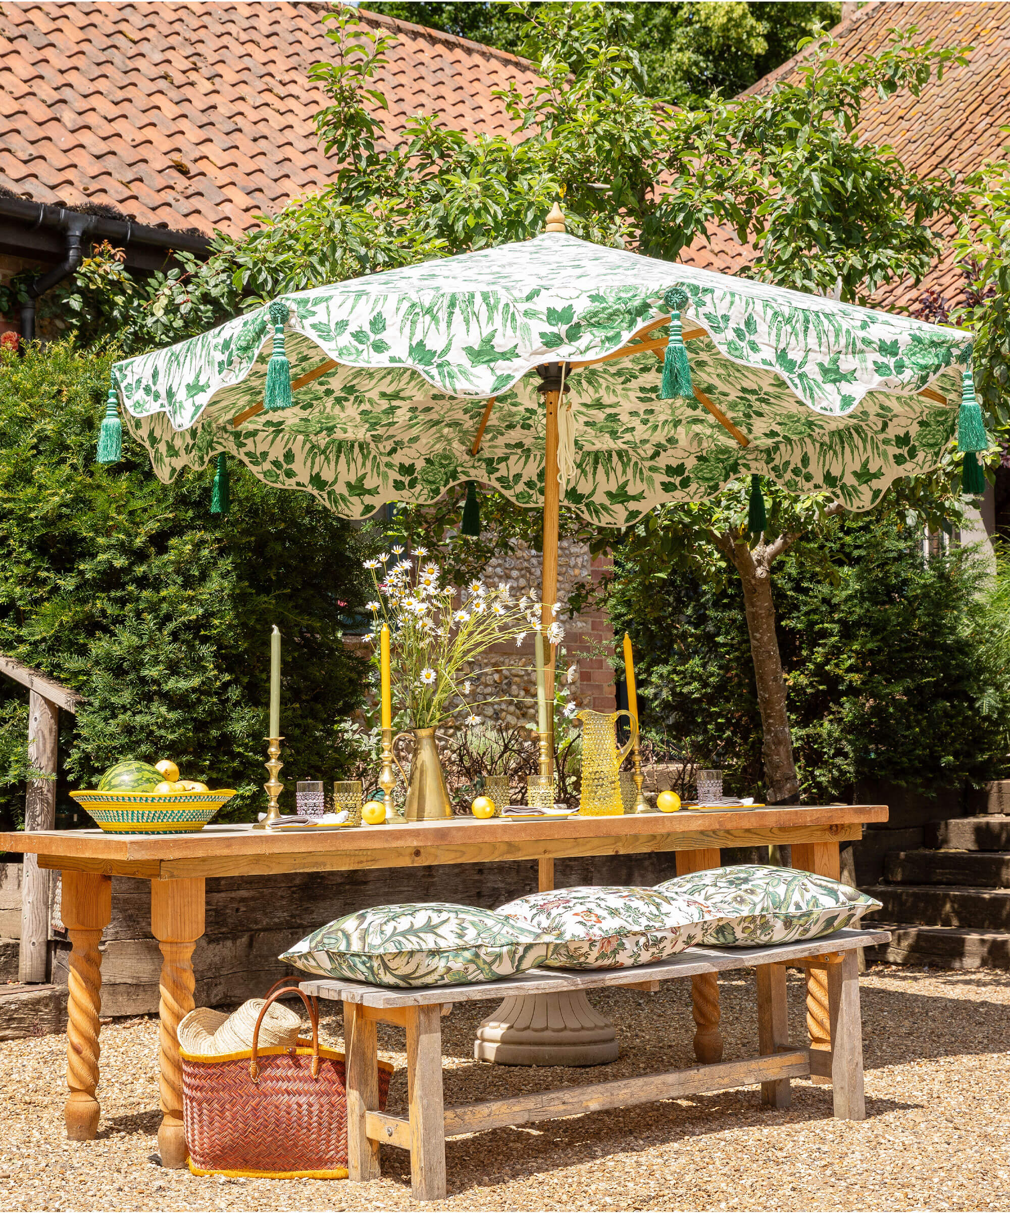
{"label": "right-hand tiled roof, partly hidden behind the tree branches", "polygon": [[[949,169],[964,176],[989,158],[999,156],[1008,136],[1000,131],[1010,115],[1010,4],[914,0],[894,4],[875,0],[833,33],[835,56],[844,61],[879,53],[892,27],[918,28],[915,42],[934,39],[937,47],[974,46],[965,67],[949,68],[937,84],[915,98],[907,91],[886,101],[872,98],[863,108],[860,138],[890,143],[900,159],[920,176]],[[761,92],[794,73],[799,56],[759,80],[748,92]],[[951,233],[946,233],[949,235]],[[712,245],[696,241],[681,261],[732,273],[752,254],[727,229],[713,233]],[[948,304],[959,302],[963,279],[948,252],[920,286],[906,280],[878,294],[883,307],[909,307],[926,289],[935,289]]]}

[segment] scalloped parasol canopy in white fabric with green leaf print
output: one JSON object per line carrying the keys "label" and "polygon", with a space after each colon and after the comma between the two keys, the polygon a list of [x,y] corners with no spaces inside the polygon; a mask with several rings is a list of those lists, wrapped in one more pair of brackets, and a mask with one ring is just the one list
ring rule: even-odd
{"label": "scalloped parasol canopy in white fabric with green leaf print", "polygon": [[[654,353],[572,366],[561,423],[575,469],[564,501],[584,518],[626,525],[754,472],[867,509],[895,478],[940,462],[970,357],[965,334],[561,233],[284,296],[295,391],[279,412],[233,425],[263,400],[266,308],[118,363],[113,380],[165,482],[223,451],[347,517],[390,500],[432,502],[464,480],[540,507],[533,368],[622,348],[664,314],[673,285],[690,298],[685,331],[704,334],[686,342],[695,387],[749,445],[695,398],[658,400]],[[919,395],[925,387],[946,403]]]}

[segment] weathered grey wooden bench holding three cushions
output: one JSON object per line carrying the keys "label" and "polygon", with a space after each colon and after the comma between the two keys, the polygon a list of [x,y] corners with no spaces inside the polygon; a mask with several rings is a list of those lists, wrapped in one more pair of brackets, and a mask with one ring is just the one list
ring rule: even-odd
{"label": "weathered grey wooden bench holding three cushions", "polygon": [[[834,1115],[861,1121],[863,1101],[862,1021],[857,953],[860,947],[886,943],[884,930],[840,930],[826,939],[774,947],[692,947],[668,961],[633,969],[563,972],[535,969],[518,978],[467,986],[399,990],[363,981],[314,979],[302,981],[306,993],[343,1002],[347,1055],[348,1169],[353,1180],[377,1179],[380,1144],[410,1150],[411,1189],[416,1200],[445,1196],[445,1139],[479,1129],[501,1128],[576,1116],[605,1107],[679,1099],[702,1092],[761,1084],[761,1103],[789,1105],[789,1080],[821,1076],[833,1087]],[[826,970],[831,1040],[820,1047],[789,1044],[786,1007],[786,966]],[[759,1057],[668,1070],[610,1082],[480,1104],[445,1107],[441,1071],[441,1016],[457,1002],[513,995],[593,990],[600,986],[657,989],[673,978],[757,969]],[[376,1024],[406,1029],[409,1115],[390,1116],[378,1107]]]}

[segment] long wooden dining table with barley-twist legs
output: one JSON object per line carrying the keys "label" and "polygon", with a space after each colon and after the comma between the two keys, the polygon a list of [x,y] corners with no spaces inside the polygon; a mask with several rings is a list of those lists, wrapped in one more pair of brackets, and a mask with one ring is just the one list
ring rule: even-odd
{"label": "long wooden dining table with barley-twist legs", "polygon": [[[102,932],[112,917],[112,878],[150,881],[150,927],[161,950],[160,1105],[158,1143],[166,1167],[187,1161],[182,1069],[176,1030],[194,1007],[193,949],[204,934],[205,882],[221,876],[355,871],[538,860],[538,885],[554,888],[554,860],[571,856],[675,852],[679,875],[718,867],[725,847],[791,845],[794,867],[839,877],[839,844],[888,820],[883,804],[726,808],[629,816],[558,819],[452,818],[298,832],[247,825],[206,826],[184,835],[121,835],[101,830],[0,833],[0,853],[38,855],[62,872],[63,924],[72,945],[67,1004],[67,1135],[98,1132],[98,1029]],[[719,987],[714,973],[691,979],[695,1050],[721,1057]],[[808,975],[808,1026],[814,1049],[831,1049],[828,993],[821,970]]]}

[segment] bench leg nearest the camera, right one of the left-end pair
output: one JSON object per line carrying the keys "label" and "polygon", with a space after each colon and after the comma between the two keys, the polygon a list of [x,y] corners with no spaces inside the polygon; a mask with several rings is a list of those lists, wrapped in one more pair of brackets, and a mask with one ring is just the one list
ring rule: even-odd
{"label": "bench leg nearest the camera, right one of the left-end pair", "polygon": [[410,1186],[416,1201],[445,1198],[441,1007],[407,1008]]}

